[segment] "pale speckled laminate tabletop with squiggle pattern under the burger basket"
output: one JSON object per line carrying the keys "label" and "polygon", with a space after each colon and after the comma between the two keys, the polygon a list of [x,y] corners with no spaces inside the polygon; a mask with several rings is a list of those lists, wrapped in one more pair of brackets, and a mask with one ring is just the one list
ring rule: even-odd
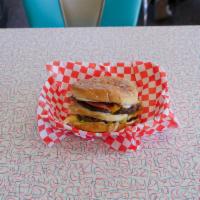
{"label": "pale speckled laminate tabletop with squiggle pattern under the burger basket", "polygon": [[[0,199],[200,198],[200,27],[0,30]],[[181,127],[122,154],[70,136],[46,147],[36,107],[54,59],[152,61]]]}

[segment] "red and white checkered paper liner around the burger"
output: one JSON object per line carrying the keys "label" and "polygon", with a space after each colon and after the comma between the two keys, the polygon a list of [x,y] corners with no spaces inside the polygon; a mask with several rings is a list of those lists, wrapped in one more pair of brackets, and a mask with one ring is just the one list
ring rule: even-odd
{"label": "red and white checkered paper liner around the burger", "polygon": [[[110,148],[118,151],[135,151],[144,135],[178,127],[170,109],[166,73],[151,62],[96,64],[53,61],[46,64],[46,69],[49,78],[39,96],[37,123],[39,135],[48,146],[74,134],[86,140],[101,138]],[[91,133],[64,124],[71,84],[94,76],[118,76],[137,85],[142,103],[142,113],[137,123],[110,133]]]}

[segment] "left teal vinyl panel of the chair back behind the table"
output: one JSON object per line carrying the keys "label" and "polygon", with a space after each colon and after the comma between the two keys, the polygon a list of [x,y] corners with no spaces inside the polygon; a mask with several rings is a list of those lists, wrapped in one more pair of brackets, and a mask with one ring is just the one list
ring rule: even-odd
{"label": "left teal vinyl panel of the chair back behind the table", "polygon": [[59,0],[23,0],[29,25],[40,27],[64,27]]}

